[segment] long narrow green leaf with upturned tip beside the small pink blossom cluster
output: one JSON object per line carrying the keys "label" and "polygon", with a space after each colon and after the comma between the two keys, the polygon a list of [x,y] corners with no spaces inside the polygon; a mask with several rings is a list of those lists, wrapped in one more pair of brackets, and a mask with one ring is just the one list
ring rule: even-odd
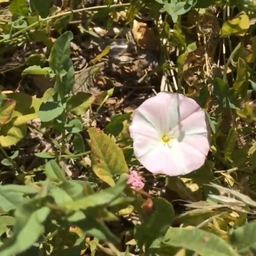
{"label": "long narrow green leaf with upturned tip beside the small pink blossom cluster", "polygon": [[[100,190],[74,202],[65,203],[60,205],[60,207],[68,211],[78,211],[107,206],[121,195],[126,186],[126,182],[127,177],[121,176],[115,186]],[[122,201],[120,201],[120,203],[122,203]]]}

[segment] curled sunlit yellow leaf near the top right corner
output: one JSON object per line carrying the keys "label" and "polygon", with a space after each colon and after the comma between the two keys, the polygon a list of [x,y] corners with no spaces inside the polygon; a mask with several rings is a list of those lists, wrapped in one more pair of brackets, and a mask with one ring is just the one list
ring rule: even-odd
{"label": "curled sunlit yellow leaf near the top right corner", "polygon": [[244,13],[239,13],[232,20],[224,22],[220,34],[225,37],[231,34],[243,36],[250,27],[250,19]]}

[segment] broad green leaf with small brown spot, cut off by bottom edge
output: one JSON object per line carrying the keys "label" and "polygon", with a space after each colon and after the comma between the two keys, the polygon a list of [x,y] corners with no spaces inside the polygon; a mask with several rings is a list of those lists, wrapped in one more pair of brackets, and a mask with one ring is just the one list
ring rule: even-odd
{"label": "broad green leaf with small brown spot, cut off by bottom edge", "polygon": [[224,240],[198,228],[171,227],[162,242],[162,247],[164,246],[186,248],[201,256],[238,256]]}

